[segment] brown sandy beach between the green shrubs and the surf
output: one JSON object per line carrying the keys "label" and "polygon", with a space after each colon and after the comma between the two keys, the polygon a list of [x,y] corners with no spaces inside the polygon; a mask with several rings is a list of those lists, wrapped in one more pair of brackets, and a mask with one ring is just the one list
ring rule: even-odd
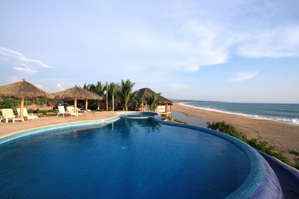
{"label": "brown sandy beach between the green shrubs and the surf", "polygon": [[194,116],[215,122],[226,121],[234,125],[238,131],[243,132],[247,138],[255,138],[258,141],[269,142],[277,147],[276,152],[291,158],[287,149],[299,151],[299,126],[286,124],[278,121],[258,120],[245,118],[240,115],[225,114],[214,111],[206,111],[192,107],[182,106],[174,103],[172,111],[184,113],[187,116]]}

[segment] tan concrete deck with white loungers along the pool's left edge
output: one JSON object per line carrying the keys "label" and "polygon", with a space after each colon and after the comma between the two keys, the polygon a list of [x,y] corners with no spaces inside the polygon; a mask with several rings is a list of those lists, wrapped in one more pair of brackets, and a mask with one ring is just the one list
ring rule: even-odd
{"label": "tan concrete deck with white loungers along the pool's left edge", "polygon": [[50,126],[56,126],[60,124],[71,124],[76,122],[86,122],[86,121],[97,121],[97,120],[103,120],[105,118],[111,118],[116,116],[120,111],[98,111],[98,112],[92,112],[92,113],[82,113],[82,116],[79,115],[78,117],[71,117],[69,115],[66,115],[62,117],[62,115],[52,116],[52,117],[44,117],[39,118],[39,121],[34,120],[27,120],[25,118],[25,122],[22,121],[15,121],[5,123],[5,121],[0,122],[0,139],[5,138],[10,135],[17,134],[19,132],[31,130],[31,129],[38,129],[43,127],[50,127]]}

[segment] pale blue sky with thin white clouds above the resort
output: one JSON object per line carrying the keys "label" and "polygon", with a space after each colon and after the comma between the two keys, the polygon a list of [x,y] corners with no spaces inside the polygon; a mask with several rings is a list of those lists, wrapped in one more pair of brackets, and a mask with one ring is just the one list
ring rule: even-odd
{"label": "pale blue sky with thin white clouds above the resort", "polygon": [[0,85],[299,103],[299,1],[0,1]]}

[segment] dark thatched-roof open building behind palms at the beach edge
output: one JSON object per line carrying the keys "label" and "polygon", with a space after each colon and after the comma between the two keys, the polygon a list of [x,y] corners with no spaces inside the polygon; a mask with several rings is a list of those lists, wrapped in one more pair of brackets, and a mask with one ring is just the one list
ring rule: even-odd
{"label": "dark thatched-roof open building behind palms at the beach edge", "polygon": [[[139,92],[138,92],[138,98],[141,99],[145,99],[144,98],[144,95],[147,95],[146,92],[154,92],[152,90],[150,90],[149,88],[142,88],[142,89],[139,89]],[[171,105],[173,105],[173,102],[162,97],[161,95],[158,96],[158,100],[161,100],[161,104],[159,106],[157,106],[157,108],[155,109],[155,112],[159,113],[159,114],[165,114],[166,116],[168,116],[169,113],[171,113]],[[141,110],[140,111],[149,111],[148,107],[146,104],[144,104],[142,107],[141,107]]]}

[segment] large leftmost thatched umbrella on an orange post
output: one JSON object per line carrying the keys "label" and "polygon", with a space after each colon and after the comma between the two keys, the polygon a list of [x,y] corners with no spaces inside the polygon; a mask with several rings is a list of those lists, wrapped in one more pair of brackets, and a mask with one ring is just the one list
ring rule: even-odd
{"label": "large leftmost thatched umbrella on an orange post", "polygon": [[54,98],[54,95],[47,93],[29,82],[19,81],[0,87],[0,95],[3,97],[21,98],[20,118],[23,118],[24,98]]}

